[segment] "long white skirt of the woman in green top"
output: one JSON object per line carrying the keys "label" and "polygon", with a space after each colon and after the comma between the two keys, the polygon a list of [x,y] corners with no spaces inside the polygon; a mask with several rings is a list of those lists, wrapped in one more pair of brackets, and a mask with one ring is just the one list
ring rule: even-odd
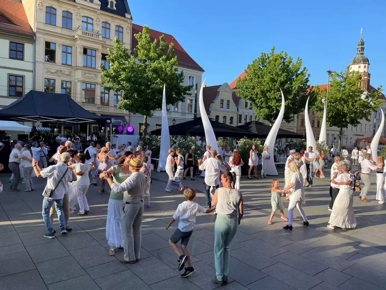
{"label": "long white skirt of the woman in green top", "polygon": [[123,200],[108,200],[106,239],[110,247],[123,247],[124,239],[122,234],[121,213],[124,203]]}

